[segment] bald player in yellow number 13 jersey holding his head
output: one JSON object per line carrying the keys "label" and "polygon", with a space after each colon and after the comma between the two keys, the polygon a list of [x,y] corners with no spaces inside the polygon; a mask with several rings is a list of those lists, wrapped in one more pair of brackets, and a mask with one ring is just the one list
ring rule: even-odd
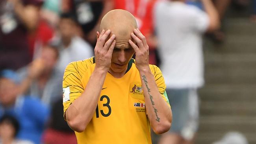
{"label": "bald player in yellow number 13 jersey holding his head", "polygon": [[64,118],[78,144],[151,144],[150,127],[161,134],[172,121],[162,73],[128,11],[109,11],[100,31],[95,57],[65,70]]}

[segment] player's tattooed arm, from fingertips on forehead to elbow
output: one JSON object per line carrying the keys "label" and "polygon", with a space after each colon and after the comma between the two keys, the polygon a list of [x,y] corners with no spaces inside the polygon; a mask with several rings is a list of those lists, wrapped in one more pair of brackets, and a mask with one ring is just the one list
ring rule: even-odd
{"label": "player's tattooed arm, from fingertips on forehead to elbow", "polygon": [[[135,33],[135,35],[134,35]],[[134,44],[131,40],[129,43],[135,50],[135,65],[139,70],[142,89],[145,96],[145,105],[147,109],[148,119],[153,131],[156,134],[165,133],[171,127],[172,113],[171,108],[163,100],[155,79],[148,65],[148,45],[145,36],[140,31],[134,30],[131,34]]]}

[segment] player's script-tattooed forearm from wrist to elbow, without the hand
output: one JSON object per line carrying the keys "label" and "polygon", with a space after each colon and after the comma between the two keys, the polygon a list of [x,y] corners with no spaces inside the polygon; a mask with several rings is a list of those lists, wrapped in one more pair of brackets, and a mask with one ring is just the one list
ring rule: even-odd
{"label": "player's script-tattooed forearm from wrist to elbow, without the hand", "polygon": [[163,133],[169,130],[171,126],[171,108],[161,97],[150,68],[139,70],[139,74],[141,76],[145,105],[151,127],[155,133]]}

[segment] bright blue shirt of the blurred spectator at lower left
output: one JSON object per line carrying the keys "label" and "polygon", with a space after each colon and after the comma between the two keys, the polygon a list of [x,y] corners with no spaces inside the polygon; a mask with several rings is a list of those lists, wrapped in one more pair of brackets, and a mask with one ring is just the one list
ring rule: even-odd
{"label": "bright blue shirt of the blurred spectator at lower left", "polygon": [[13,107],[0,104],[0,117],[10,114],[20,123],[18,139],[30,140],[35,144],[41,143],[43,129],[49,116],[49,109],[38,98],[19,96]]}

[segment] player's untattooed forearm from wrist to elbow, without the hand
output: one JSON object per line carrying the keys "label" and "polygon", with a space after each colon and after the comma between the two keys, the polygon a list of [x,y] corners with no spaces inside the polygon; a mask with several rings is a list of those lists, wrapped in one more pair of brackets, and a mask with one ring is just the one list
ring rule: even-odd
{"label": "player's untattooed forearm from wrist to elbow, without the hand", "polygon": [[74,100],[67,109],[67,122],[75,131],[84,131],[87,124],[91,121],[106,73],[101,70],[94,70],[81,96]]}

